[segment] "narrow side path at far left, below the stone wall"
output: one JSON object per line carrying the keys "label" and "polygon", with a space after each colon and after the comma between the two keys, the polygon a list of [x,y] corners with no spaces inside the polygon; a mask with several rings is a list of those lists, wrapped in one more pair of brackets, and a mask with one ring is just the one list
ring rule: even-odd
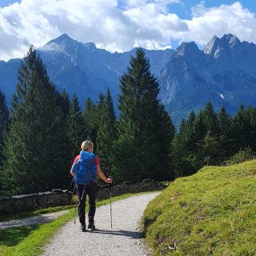
{"label": "narrow side path at far left, below the stone wall", "polygon": [[36,225],[45,222],[52,222],[54,219],[57,219],[63,214],[67,214],[68,210],[56,211],[50,214],[41,214],[34,217],[28,217],[23,219],[12,219],[8,222],[0,222],[0,230],[9,228],[9,227],[21,227],[28,225]]}

